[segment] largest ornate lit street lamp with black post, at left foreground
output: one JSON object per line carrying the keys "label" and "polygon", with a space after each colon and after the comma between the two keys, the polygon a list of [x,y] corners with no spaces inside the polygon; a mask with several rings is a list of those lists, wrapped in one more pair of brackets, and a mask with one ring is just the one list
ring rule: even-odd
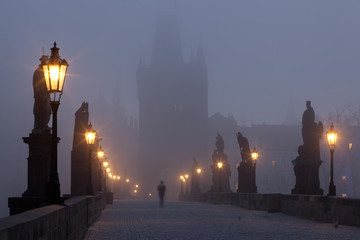
{"label": "largest ornate lit street lamp with black post, at left foreground", "polygon": [[[52,117],[52,138],[51,138],[51,164],[50,164],[50,179],[46,184],[46,201],[48,203],[59,204],[60,198],[60,182],[57,171],[57,111],[60,105],[60,98],[63,93],[65,83],[66,71],[69,64],[65,59],[59,56],[59,48],[51,48],[50,58],[42,64],[44,71],[44,78],[46,82],[47,91],[50,94],[50,106],[53,114]],[[51,97],[52,95],[52,97]]]}

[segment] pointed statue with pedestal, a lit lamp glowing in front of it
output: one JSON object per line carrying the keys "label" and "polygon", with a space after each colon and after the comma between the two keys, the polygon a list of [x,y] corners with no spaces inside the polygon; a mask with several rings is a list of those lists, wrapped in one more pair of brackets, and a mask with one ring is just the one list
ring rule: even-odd
{"label": "pointed statue with pedestal, a lit lamp glowing in front of it", "polygon": [[[218,133],[216,136],[216,149],[212,155],[213,163],[211,165],[211,170],[213,172],[212,176],[212,186],[211,192],[231,192],[230,190],[230,165],[227,161],[227,156],[224,153],[224,139]],[[218,167],[218,163],[222,163],[222,167]]]}

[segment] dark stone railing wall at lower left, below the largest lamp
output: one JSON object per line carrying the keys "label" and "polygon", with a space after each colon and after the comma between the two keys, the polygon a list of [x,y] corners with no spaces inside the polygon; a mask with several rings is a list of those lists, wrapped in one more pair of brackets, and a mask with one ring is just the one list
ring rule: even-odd
{"label": "dark stone railing wall at lower left, below the largest lamp", "polygon": [[0,240],[82,239],[108,198],[103,193],[74,197],[64,205],[49,205],[1,218]]}

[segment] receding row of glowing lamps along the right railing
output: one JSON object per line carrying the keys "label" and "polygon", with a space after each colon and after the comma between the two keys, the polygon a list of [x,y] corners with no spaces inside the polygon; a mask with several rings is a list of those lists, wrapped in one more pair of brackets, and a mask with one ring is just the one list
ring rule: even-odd
{"label": "receding row of glowing lamps along the right railing", "polygon": [[[330,162],[330,183],[329,183],[329,191],[328,196],[336,196],[336,186],[334,184],[334,151],[336,147],[336,141],[338,137],[338,132],[335,131],[334,124],[331,123],[330,130],[326,132],[327,141],[329,144],[330,149],[330,156],[331,156],[331,162]],[[256,173],[256,162],[259,158],[259,152],[256,150],[256,147],[254,147],[253,151],[251,152],[251,160],[253,163],[254,172]],[[218,191],[222,192],[221,189],[221,169],[223,168],[223,162],[219,161],[216,164],[218,168]],[[196,174],[200,176],[202,173],[201,168],[196,168]],[[189,181],[189,174],[185,173],[179,176],[180,179],[180,194],[188,194],[188,181]],[[255,175],[254,175],[254,183],[255,183]],[[184,190],[185,185],[185,190]]]}

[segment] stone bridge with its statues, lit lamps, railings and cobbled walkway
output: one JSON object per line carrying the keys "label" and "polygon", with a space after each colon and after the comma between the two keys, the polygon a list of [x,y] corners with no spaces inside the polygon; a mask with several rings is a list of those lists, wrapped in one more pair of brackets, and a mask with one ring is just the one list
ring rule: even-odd
{"label": "stone bridge with its statues, lit lamps, railings and cobbled walkway", "polygon": [[[253,232],[243,228],[239,228],[240,230],[230,229],[224,226],[224,223],[230,222],[226,222],[227,220],[221,222],[226,216],[234,217],[235,212],[242,215],[237,217],[238,220],[243,219],[243,216],[246,216],[244,219],[249,220],[252,218],[251,216],[259,215],[259,212],[254,210],[263,211],[264,216],[268,219],[271,219],[271,214],[276,214],[274,216],[277,218],[284,219],[280,221],[281,223],[289,220],[289,215],[298,217],[300,226],[313,226],[311,234],[328,232],[328,230],[321,230],[324,226],[340,229],[338,233],[330,235],[328,239],[338,239],[337,237],[341,234],[344,234],[342,239],[354,239],[353,236],[359,233],[357,227],[360,226],[360,199],[336,196],[333,180],[333,153],[337,132],[333,125],[327,132],[331,153],[328,194],[324,196],[324,190],[320,188],[319,167],[322,161],[320,160],[319,140],[323,135],[323,125],[321,122],[315,122],[315,112],[310,101],[306,102],[306,110],[302,119],[303,144],[298,148],[297,158],[292,161],[296,184],[291,195],[257,192],[256,161],[259,153],[256,147],[251,151],[248,139],[238,132],[236,136],[242,160],[237,167],[237,192],[232,192],[230,188],[230,164],[224,151],[224,140],[218,134],[210,166],[212,185],[209,191],[204,189],[201,191],[201,181],[199,180],[201,168],[194,159],[192,173],[180,176],[179,179],[181,182],[179,200],[181,202],[166,202],[163,209],[159,209],[153,201],[149,200],[138,202],[116,200],[113,203],[114,194],[111,192],[110,184],[111,181],[120,179],[120,176],[111,170],[109,162],[104,157],[104,151],[100,146],[101,138],[89,122],[87,102],[83,102],[75,113],[75,130],[71,151],[71,193],[61,195],[57,172],[57,145],[60,142],[60,138],[57,136],[57,110],[60,105],[68,63],[60,58],[56,43],[51,49],[51,56],[43,55],[40,61],[41,64],[36,69],[33,78],[34,128],[29,137],[23,138],[24,142],[29,145],[28,188],[21,197],[9,198],[11,216],[0,219],[0,239],[83,239],[84,237],[86,239],[194,239],[196,234],[203,234],[197,237],[199,239],[210,239],[210,237],[213,239],[238,239],[239,236],[247,239],[269,239],[265,237],[271,237],[269,234],[272,231],[283,229],[277,225],[280,220],[277,224],[255,221],[255,223],[263,224],[257,226],[262,229],[262,234],[257,238],[252,238],[252,234],[257,234],[255,229],[252,229]],[[55,71],[56,74],[54,74],[54,66],[58,71]],[[53,98],[50,98],[50,95]],[[51,113],[53,122],[50,128],[48,122]],[[126,181],[128,182],[128,179]],[[191,182],[190,192],[187,189],[185,192],[183,191],[183,183],[186,181]],[[126,191],[128,190],[126,189]],[[129,196],[128,192],[124,194],[124,191],[122,189],[120,194],[117,192],[118,195],[115,197]],[[136,193],[137,189],[134,191]],[[214,207],[209,207],[209,203],[215,204],[212,205]],[[224,211],[219,213],[219,208],[216,206],[225,204],[229,206],[222,207],[221,211]],[[240,208],[234,208],[231,205]],[[194,208],[197,211],[194,211]],[[139,213],[139,211],[141,212]],[[147,215],[148,211],[154,215]],[[136,214],[140,214],[138,218],[132,218]],[[202,214],[205,217],[198,219],[196,214]],[[220,215],[216,215],[214,219],[214,214]],[[128,220],[121,220],[124,217]],[[217,217],[220,219],[218,222]],[[302,219],[300,220],[300,218]],[[227,231],[221,231],[220,234],[214,232],[214,228],[216,228],[214,224],[210,224],[208,227],[201,225],[199,229],[196,229],[191,227],[199,224],[194,219],[212,223],[215,221],[219,226],[225,227]],[[296,225],[297,221],[294,219],[296,218],[291,218],[289,221]],[[303,219],[327,224],[304,222]],[[155,224],[156,222],[158,225]],[[186,233],[182,229],[174,228],[179,224],[187,226],[189,231]],[[111,225],[112,228],[104,228],[106,225]],[[343,225],[356,227],[344,227]],[[161,230],[161,226],[164,229]],[[303,239],[302,237],[311,236],[311,234],[304,235],[296,227],[292,231],[290,235],[280,234],[276,239],[282,237],[287,239],[286,237],[289,236],[294,239]],[[156,232],[162,232],[162,235],[156,234]],[[210,236],[209,233],[212,235]]]}

